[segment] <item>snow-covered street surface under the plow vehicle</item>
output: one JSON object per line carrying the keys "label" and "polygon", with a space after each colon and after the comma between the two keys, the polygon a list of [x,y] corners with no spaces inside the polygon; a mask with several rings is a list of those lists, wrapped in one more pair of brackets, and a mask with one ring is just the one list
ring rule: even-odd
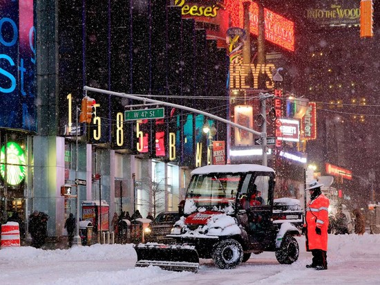
{"label": "snow-covered street surface under the plow vehicle", "polygon": [[330,235],[328,270],[305,268],[311,253],[298,237],[300,257],[281,265],[273,252],[253,255],[233,270],[201,259],[198,273],[156,267],[135,268],[131,244],[93,245],[68,250],[31,247],[0,250],[1,284],[379,284],[380,235]]}

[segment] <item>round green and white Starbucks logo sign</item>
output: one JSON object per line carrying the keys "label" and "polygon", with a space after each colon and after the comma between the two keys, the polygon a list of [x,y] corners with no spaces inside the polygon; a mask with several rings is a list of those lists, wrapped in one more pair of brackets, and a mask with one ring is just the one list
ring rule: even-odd
{"label": "round green and white Starbucks logo sign", "polygon": [[25,178],[26,157],[23,149],[17,143],[7,143],[7,155],[6,146],[1,147],[0,174],[4,179],[6,177],[6,182],[10,185],[19,185],[23,181],[23,178]]}

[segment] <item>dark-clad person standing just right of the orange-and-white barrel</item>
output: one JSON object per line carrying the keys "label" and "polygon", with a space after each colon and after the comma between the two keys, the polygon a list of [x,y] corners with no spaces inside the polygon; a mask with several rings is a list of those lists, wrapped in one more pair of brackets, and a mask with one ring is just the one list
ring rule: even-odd
{"label": "dark-clad person standing just right of the orange-and-white barrel", "polygon": [[31,246],[41,248],[45,244],[47,232],[47,222],[49,216],[44,212],[35,210],[29,217],[29,232],[32,236]]}

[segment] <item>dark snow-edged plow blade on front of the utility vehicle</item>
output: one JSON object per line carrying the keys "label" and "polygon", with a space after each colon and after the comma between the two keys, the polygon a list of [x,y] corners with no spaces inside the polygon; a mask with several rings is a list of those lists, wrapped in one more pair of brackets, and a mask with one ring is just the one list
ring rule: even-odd
{"label": "dark snow-edged plow blade on front of the utility vehicle", "polygon": [[193,246],[143,244],[134,246],[135,267],[159,266],[164,270],[198,272],[199,257]]}

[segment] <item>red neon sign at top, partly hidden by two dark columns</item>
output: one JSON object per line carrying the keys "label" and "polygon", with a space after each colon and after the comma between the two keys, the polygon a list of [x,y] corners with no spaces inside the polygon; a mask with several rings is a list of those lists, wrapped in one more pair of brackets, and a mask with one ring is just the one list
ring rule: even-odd
{"label": "red neon sign at top, partly hidden by two dark columns", "polygon": [[[230,26],[244,28],[244,0],[227,1],[227,10],[231,17]],[[258,4],[249,2],[249,31],[258,35]],[[264,8],[265,39],[287,50],[294,51],[294,22]]]}

